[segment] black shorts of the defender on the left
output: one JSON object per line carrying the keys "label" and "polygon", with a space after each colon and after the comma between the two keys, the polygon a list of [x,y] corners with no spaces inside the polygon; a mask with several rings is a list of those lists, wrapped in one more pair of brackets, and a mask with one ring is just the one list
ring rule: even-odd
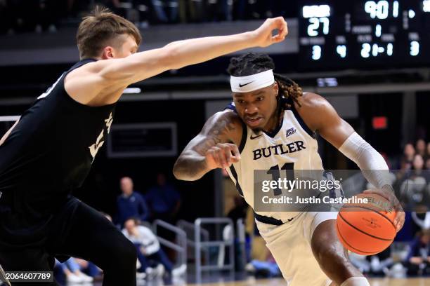
{"label": "black shorts of the defender on the left", "polygon": [[[55,258],[65,261],[68,257],[79,257],[103,269],[112,263],[121,263],[115,261],[115,253],[118,253],[118,247],[129,248],[128,243],[121,231],[103,214],[72,197],[51,220],[42,245],[5,247],[0,244],[0,264],[6,272],[52,271]],[[136,281],[136,267],[129,275],[134,275],[130,281]],[[45,284],[38,282],[37,285]]]}

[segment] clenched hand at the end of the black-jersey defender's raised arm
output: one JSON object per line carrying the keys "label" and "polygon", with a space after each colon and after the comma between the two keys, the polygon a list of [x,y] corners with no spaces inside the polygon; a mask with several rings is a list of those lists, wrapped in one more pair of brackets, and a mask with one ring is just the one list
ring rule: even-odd
{"label": "clenched hand at the end of the black-jersey defender's raised arm", "polygon": [[[273,30],[278,30],[278,34],[272,35]],[[285,36],[288,34],[287,22],[284,18],[268,18],[263,25],[254,30],[256,35],[257,46],[266,47],[272,43],[279,43],[284,41]]]}

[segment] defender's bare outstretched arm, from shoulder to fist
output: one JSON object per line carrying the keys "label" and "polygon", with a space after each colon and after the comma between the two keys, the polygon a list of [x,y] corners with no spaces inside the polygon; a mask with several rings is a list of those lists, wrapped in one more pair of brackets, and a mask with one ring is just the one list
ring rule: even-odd
{"label": "defender's bare outstretched arm, from shoulder to fist", "polygon": [[[274,30],[278,30],[275,36],[272,35]],[[66,88],[70,93],[84,94],[86,102],[90,102],[97,95],[119,93],[119,90],[131,83],[143,81],[169,69],[198,64],[245,48],[279,43],[287,33],[287,22],[278,17],[266,20],[252,32],[175,41],[163,48],[124,58],[98,60],[68,74]]]}

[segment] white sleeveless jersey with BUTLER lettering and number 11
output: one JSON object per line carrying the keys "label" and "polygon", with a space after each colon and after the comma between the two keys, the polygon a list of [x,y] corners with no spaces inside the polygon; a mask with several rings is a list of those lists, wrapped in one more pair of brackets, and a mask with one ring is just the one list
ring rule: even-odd
{"label": "white sleeveless jersey with BUTLER lettering and number 11", "polygon": [[[228,108],[235,110],[233,104]],[[241,160],[227,169],[237,191],[253,209],[254,170],[323,170],[314,132],[294,107],[283,112],[282,124],[272,134],[256,134],[243,124]],[[282,224],[296,215],[297,212],[256,212],[258,220],[259,216],[264,216],[271,224]]]}

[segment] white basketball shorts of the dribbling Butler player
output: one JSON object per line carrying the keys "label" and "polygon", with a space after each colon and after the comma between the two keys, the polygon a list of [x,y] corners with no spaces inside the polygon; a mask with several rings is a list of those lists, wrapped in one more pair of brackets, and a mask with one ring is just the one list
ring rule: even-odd
{"label": "white basketball shorts of the dribbling Butler player", "polygon": [[301,212],[291,222],[280,226],[256,221],[288,286],[330,285],[332,281],[313,257],[311,239],[320,223],[336,218],[337,212]]}

